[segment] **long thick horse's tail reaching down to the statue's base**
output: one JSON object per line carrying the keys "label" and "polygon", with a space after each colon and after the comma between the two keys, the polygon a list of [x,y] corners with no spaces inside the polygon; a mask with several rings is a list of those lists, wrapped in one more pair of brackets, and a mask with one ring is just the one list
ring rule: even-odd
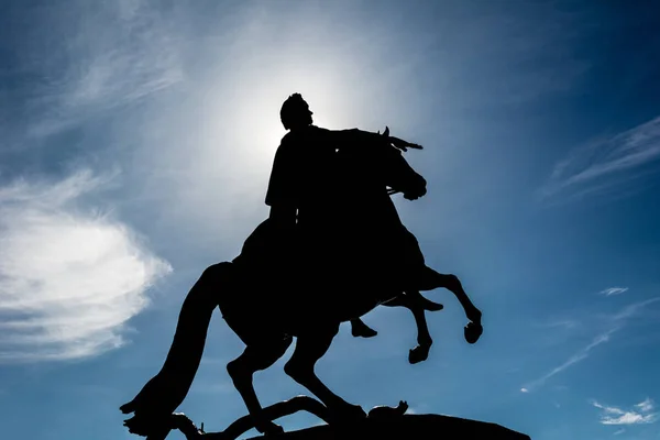
{"label": "long thick horse's tail reaching down to the statue's base", "polygon": [[165,416],[182,404],[201,362],[211,315],[222,305],[231,268],[232,263],[223,262],[204,271],[184,300],[163,367],[133,400],[120,407],[122,413]]}

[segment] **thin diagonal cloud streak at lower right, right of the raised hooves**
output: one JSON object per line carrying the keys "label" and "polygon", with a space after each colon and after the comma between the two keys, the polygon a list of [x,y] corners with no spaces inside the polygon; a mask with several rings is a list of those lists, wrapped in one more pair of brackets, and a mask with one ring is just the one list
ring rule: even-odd
{"label": "thin diagonal cloud streak at lower right, right of the raised hooves", "polygon": [[573,355],[571,355],[566,361],[564,361],[563,363],[561,363],[560,365],[556,366],[554,369],[550,370],[548,373],[546,373],[544,375],[542,375],[541,377],[529,382],[528,384],[525,384],[522,386],[522,388],[520,388],[520,392],[522,393],[529,393],[531,391],[535,391],[539,387],[541,387],[546,381],[548,381],[550,377],[563,372],[564,370],[569,369],[570,366],[584,361],[585,359],[588,358],[590,353],[592,350],[594,350],[595,348],[609,342],[610,337],[619,331],[622,328],[625,327],[626,321],[631,318],[632,316],[635,316],[636,314],[638,314],[641,309],[644,309],[645,307],[649,306],[650,304],[660,301],[660,297],[656,297],[656,298],[650,298],[640,302],[635,302],[631,304],[629,306],[626,306],[624,309],[622,309],[619,312],[609,316],[608,317],[608,329],[600,334],[597,334],[591,343],[588,343],[587,345],[583,346],[582,349],[580,349],[579,351],[576,351]]}

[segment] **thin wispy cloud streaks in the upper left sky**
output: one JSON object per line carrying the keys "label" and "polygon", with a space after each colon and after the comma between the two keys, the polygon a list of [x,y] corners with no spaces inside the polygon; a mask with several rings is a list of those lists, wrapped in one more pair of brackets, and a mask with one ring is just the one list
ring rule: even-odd
{"label": "thin wispy cloud streaks in the upper left sky", "polygon": [[[184,79],[180,38],[162,11],[147,3],[121,0],[89,9],[80,2],[66,7],[77,14],[47,15],[66,23],[52,30],[62,40],[58,51],[44,54],[37,66],[50,70],[50,80],[29,101],[30,112],[37,116],[29,135],[51,135]],[[62,59],[66,65],[58,64]]]}

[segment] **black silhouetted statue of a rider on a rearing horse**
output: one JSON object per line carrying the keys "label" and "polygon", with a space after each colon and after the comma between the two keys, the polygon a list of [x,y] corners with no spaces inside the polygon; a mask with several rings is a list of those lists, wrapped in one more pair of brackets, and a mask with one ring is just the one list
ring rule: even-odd
{"label": "black silhouetted statue of a rider on a rearing horse", "polygon": [[[315,127],[299,95],[285,101],[282,119],[289,133],[271,175],[270,218],[237,258],[208,267],[193,286],[163,369],[121,407],[124,414],[134,413],[124,424],[131,432],[165,438],[172,413],[199,366],[216,307],[246,345],[227,370],[255,428],[267,435],[282,428],[264,415],[252,376],[273,365],[293,338],[296,349],[285,372],[321,400],[332,422],[344,424],[366,414],[332,393],[314,372],[341,322],[355,324],[378,305],[404,306],[424,330],[424,309],[441,306],[419,292],[444,287],[471,321],[466,340],[476,342],[483,331],[481,311],[460,280],[425,264],[392,201],[393,191],[410,200],[426,194],[426,180],[402,155],[417,145],[391,138],[388,130],[381,135]],[[422,342],[430,346],[430,336]],[[422,348],[420,358],[427,352]]]}

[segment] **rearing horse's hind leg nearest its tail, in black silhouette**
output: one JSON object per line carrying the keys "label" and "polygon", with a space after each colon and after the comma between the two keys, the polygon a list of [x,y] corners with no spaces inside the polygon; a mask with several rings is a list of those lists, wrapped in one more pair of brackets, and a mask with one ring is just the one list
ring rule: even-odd
{"label": "rearing horse's hind leg nearest its tail, in black silhouette", "polygon": [[254,427],[261,433],[282,432],[282,428],[263,417],[263,409],[254,392],[252,377],[255,372],[266,370],[273,365],[284,355],[290,344],[290,337],[278,341],[250,344],[239,358],[227,364],[227,372],[231,376],[237,391],[241,394],[248,411],[253,418]]}

